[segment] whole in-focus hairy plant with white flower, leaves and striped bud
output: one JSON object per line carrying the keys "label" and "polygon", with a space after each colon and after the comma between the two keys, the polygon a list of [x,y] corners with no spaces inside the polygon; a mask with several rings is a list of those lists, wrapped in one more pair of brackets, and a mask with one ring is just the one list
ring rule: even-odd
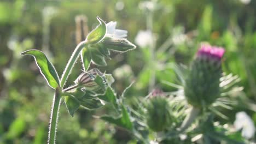
{"label": "whole in-focus hairy plant with white flower, leaves and striped bud", "polygon": [[[125,39],[127,31],[115,28],[117,22],[106,24],[98,16],[97,20],[99,25],[88,34],[85,40],[77,45],[63,71],[61,79],[54,65],[51,64],[42,51],[28,50],[21,53],[21,55],[31,55],[34,57],[46,82],[51,88],[55,89],[48,143],[55,143],[58,112],[62,98],[65,99],[67,110],[71,116],[74,115],[79,106],[86,109],[97,109],[102,106],[101,99],[116,104],[116,101],[113,99],[115,95],[112,93],[112,89],[109,88],[113,82],[113,77],[103,74],[97,69],[89,70],[90,64],[107,65],[105,58],[110,58],[109,51],[126,52],[135,49],[136,46]],[[82,58],[84,72],[75,80],[73,86],[64,88],[79,56]],[[105,91],[106,93],[104,93]],[[97,93],[104,93],[107,96],[103,97],[104,94],[95,96]],[[123,115],[128,115],[124,106]],[[127,117],[125,119],[127,121]]]}

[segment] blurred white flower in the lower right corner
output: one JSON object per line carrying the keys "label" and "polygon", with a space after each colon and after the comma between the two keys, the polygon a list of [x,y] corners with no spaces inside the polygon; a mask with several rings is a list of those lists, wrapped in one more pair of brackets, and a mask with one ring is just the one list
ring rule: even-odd
{"label": "blurred white flower in the lower right corner", "polygon": [[246,112],[241,111],[236,113],[236,120],[234,122],[234,126],[236,130],[242,129],[242,136],[246,139],[250,139],[254,136],[254,123],[251,117],[246,114]]}

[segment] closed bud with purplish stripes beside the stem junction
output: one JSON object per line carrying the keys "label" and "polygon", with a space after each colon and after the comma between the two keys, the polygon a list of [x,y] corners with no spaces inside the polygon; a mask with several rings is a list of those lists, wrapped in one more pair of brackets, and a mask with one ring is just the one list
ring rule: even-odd
{"label": "closed bud with purplish stripes beside the stem junction", "polygon": [[91,69],[90,71],[80,74],[74,82],[78,86],[85,87],[89,91],[98,91],[101,87],[94,81],[97,75],[103,77],[100,70]]}

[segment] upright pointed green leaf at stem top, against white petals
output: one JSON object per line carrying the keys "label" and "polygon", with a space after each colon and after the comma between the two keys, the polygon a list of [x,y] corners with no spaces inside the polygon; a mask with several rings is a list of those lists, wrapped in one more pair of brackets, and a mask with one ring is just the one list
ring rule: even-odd
{"label": "upright pointed green leaf at stem top, against white petals", "polygon": [[95,44],[98,43],[98,41],[101,41],[107,31],[106,24],[103,20],[101,20],[100,17],[97,16],[98,22],[100,22],[100,25],[98,25],[94,30],[92,30],[89,34],[86,40],[88,41],[88,44]]}

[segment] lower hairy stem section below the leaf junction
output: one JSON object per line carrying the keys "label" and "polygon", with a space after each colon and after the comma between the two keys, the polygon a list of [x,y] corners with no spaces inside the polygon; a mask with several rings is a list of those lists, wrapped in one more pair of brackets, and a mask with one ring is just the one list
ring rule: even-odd
{"label": "lower hairy stem section below the leaf junction", "polygon": [[49,129],[49,137],[48,137],[49,144],[55,143],[60,101],[61,101],[61,94],[59,89],[56,89],[54,94],[54,99],[53,99],[53,108],[51,109],[50,129]]}

